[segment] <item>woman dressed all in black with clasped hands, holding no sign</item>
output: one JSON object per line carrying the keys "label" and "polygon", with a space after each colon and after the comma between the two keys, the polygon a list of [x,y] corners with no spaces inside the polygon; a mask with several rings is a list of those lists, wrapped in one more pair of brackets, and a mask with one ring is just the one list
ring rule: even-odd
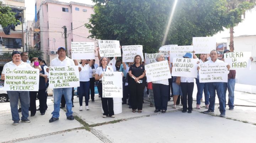
{"label": "woman dressed all in black with clasped hands, holding no sign", "polygon": [[142,64],[142,58],[140,55],[134,57],[134,64],[129,68],[129,89],[132,102],[132,112],[135,113],[138,109],[138,113],[142,113],[144,87],[146,85],[145,80],[145,68]]}

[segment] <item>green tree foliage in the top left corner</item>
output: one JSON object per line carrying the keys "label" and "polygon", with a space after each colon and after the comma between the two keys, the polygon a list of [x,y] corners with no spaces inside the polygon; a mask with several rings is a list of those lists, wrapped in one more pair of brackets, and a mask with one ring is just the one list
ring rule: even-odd
{"label": "green tree foliage in the top left corner", "polygon": [[2,2],[0,2],[0,25],[6,27],[17,22],[20,21],[15,18],[15,12],[12,12],[9,6],[2,5]]}

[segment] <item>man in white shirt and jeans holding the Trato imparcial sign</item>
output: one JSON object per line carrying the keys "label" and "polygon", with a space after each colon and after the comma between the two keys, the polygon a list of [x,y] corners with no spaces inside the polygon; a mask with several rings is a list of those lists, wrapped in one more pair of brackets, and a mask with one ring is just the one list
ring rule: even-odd
{"label": "man in white shirt and jeans holding the Trato imparcial sign", "polygon": [[[205,64],[224,63],[223,61],[217,59],[217,57],[218,57],[217,51],[212,50],[210,52],[211,59],[209,61],[206,61]],[[229,70],[230,65],[227,65],[226,67]],[[200,67],[197,67],[197,69],[199,70]],[[228,76],[228,75],[226,75],[226,76]],[[216,92],[217,92],[217,95],[219,98],[220,117],[225,117],[226,110],[225,110],[225,99],[224,99],[224,95],[223,95],[224,82],[208,82],[207,85],[208,85],[208,90],[210,93],[210,98],[209,98],[210,104],[209,104],[209,109],[207,111],[204,111],[203,113],[205,113],[205,114],[213,114],[214,113],[215,96],[216,96]]]}

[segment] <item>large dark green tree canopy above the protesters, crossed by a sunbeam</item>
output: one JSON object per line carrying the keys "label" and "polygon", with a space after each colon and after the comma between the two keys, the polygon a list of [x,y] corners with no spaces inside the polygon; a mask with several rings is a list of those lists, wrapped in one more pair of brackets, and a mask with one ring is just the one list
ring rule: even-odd
{"label": "large dark green tree canopy above the protesters, crossed by a sunbeam", "polygon": [[[162,46],[174,0],[94,0],[95,14],[86,24],[91,38],[143,45],[146,53]],[[240,22],[241,13],[227,15],[226,0],[178,0],[166,44],[191,45],[192,37],[212,36]],[[233,18],[233,20],[232,20]]]}

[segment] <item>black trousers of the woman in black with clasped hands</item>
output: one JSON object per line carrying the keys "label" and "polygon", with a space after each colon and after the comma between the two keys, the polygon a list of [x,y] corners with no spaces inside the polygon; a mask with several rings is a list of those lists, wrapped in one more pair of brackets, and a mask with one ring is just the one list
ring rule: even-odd
{"label": "black trousers of the woman in black with clasped hands", "polygon": [[132,110],[136,110],[136,109],[142,110],[145,84],[143,83],[138,84],[132,79],[132,80],[129,80],[128,86],[129,86],[130,95],[131,95],[130,97],[132,102],[131,103]]}

